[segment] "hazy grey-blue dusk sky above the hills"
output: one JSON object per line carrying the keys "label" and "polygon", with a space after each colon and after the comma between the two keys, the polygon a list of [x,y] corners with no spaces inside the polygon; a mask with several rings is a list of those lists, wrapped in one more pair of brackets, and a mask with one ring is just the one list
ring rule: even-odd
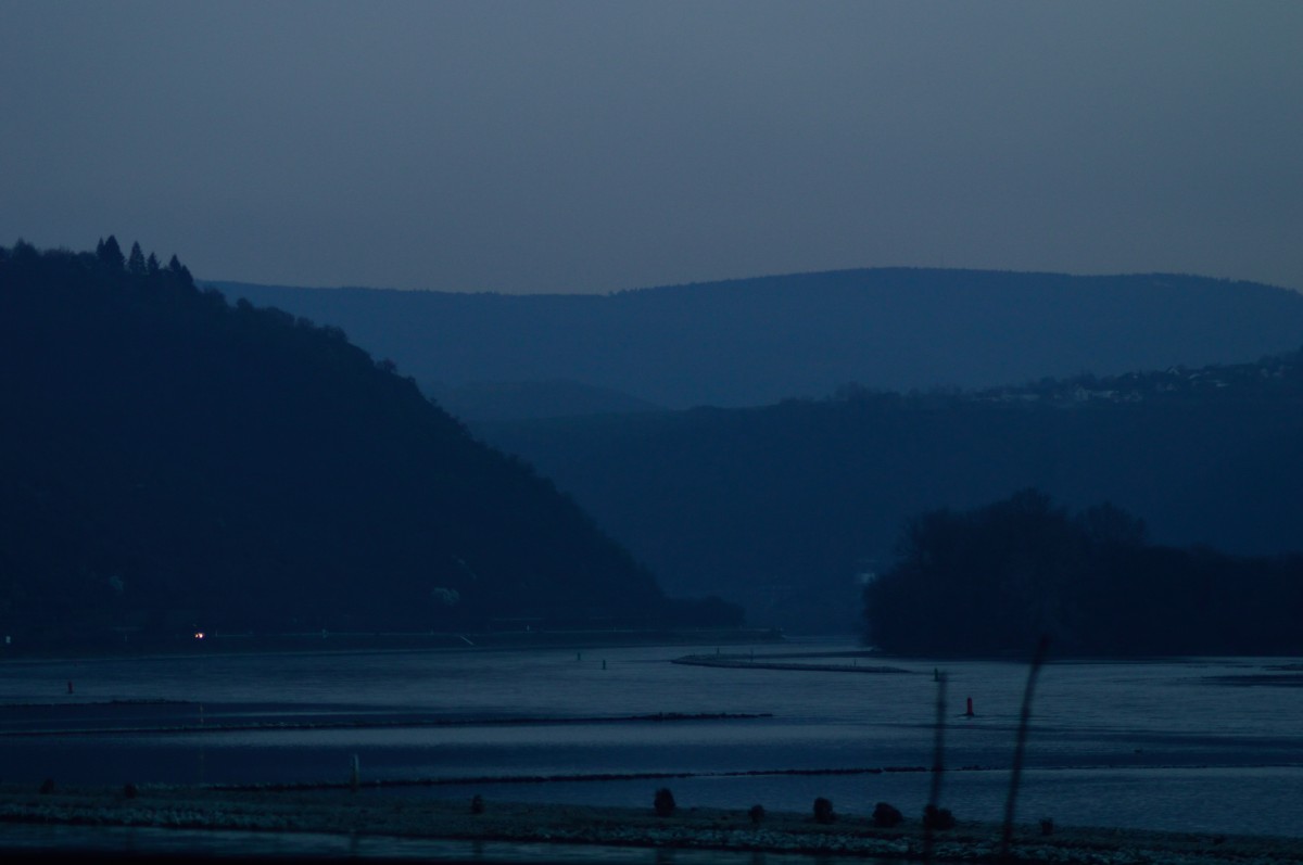
{"label": "hazy grey-blue dusk sky above the hills", "polygon": [[1303,3],[0,0],[0,242],[206,279],[1303,289]]}

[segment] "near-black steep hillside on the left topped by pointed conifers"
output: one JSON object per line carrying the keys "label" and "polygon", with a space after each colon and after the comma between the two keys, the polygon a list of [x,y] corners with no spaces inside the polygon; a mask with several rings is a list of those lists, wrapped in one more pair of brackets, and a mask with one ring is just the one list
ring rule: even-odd
{"label": "near-black steep hillside on the left topped by pointed conifers", "polygon": [[337,328],[0,248],[0,633],[665,624],[652,574]]}

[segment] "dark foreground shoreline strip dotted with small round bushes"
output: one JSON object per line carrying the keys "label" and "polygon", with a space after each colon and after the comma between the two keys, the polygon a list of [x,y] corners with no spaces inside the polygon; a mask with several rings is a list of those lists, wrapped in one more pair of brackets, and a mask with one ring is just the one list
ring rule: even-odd
{"label": "dark foreground shoreline strip dotted with small round bushes", "polygon": [[[142,786],[130,795],[125,788],[103,787],[56,788],[42,793],[30,784],[0,786],[0,823],[315,832],[923,861],[928,857],[929,840],[919,821],[907,822],[911,825],[889,830],[873,826],[866,817],[839,817],[822,825],[809,814],[770,813],[753,823],[745,810],[706,808],[679,808],[670,817],[657,817],[650,802],[646,809],[629,809],[490,800],[483,804],[483,812],[476,814],[469,801],[417,801],[374,792]],[[930,857],[934,861],[997,861],[999,839],[1001,827],[994,823],[960,822],[955,829],[933,835]],[[4,849],[0,826],[0,853],[9,852]],[[18,852],[18,858],[64,853],[66,851],[25,849]],[[14,861],[8,855],[4,858]],[[1303,838],[1087,827],[1059,827],[1044,835],[1036,825],[1020,825],[1007,861],[1285,865],[1303,862]]]}

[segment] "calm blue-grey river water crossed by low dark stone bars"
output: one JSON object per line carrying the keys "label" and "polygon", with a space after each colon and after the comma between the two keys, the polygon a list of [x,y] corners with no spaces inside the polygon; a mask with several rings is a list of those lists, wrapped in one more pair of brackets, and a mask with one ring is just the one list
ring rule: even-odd
{"label": "calm blue-grey river water crossed by low dark stone bars", "polygon": [[[790,644],[757,646],[754,655],[762,663],[856,650]],[[930,775],[899,770],[932,763],[941,671],[949,683],[942,805],[962,819],[1001,818],[1025,666],[863,657],[774,659],[846,667],[835,672],[670,663],[715,651],[9,660],[0,664],[0,780],[344,782],[356,754],[364,780],[440,782],[403,788],[413,796],[649,808],[666,786],[680,806],[805,812],[826,796],[842,813],[889,801],[916,814]],[[751,657],[748,647],[722,651]],[[900,672],[860,670],[873,664]],[[764,716],[631,719],[659,713]],[[1020,819],[1303,835],[1303,660],[1050,663],[1032,714]],[[649,773],[681,776],[586,778]],[[524,780],[541,775],[580,778]]]}

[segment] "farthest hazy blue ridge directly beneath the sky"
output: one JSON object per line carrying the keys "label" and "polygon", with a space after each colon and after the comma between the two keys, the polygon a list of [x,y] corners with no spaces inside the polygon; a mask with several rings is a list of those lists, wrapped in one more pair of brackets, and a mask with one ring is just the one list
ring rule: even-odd
{"label": "farthest hazy blue ridge directly beneath the sky", "polygon": [[457,404],[463,419],[538,413],[530,382],[748,406],[847,382],[904,392],[1244,362],[1303,333],[1298,292],[1179,275],[878,268],[609,296],[216,285],[343,327],[430,392],[511,384]]}

